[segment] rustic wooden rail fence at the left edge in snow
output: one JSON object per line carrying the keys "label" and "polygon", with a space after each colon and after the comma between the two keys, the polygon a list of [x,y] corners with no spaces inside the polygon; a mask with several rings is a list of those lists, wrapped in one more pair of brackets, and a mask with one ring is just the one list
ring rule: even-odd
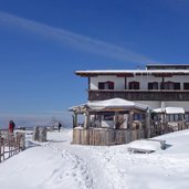
{"label": "rustic wooden rail fence at the left edge in snow", "polygon": [[8,132],[0,133],[0,162],[11,156],[24,150],[25,134],[10,134]]}

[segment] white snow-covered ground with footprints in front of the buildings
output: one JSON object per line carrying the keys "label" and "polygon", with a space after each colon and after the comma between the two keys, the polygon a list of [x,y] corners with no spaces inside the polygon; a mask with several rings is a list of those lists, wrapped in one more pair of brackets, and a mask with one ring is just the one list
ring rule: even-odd
{"label": "white snow-covered ground with footprints in front of the buildings", "polygon": [[129,154],[129,145],[71,145],[72,130],[48,134],[48,143],[28,137],[28,149],[0,164],[1,189],[187,189],[189,130],[158,138],[167,149]]}

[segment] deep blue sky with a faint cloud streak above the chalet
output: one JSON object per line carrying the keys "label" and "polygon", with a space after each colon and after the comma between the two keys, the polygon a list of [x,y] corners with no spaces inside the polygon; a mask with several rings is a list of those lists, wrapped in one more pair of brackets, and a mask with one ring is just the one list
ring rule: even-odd
{"label": "deep blue sky with a faint cloud streak above the chalet", "polygon": [[188,0],[0,0],[0,126],[72,123],[76,70],[189,63]]}

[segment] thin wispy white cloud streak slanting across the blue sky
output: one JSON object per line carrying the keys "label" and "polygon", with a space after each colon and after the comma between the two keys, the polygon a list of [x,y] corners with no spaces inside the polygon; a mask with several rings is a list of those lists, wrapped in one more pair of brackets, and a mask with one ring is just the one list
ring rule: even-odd
{"label": "thin wispy white cloud streak slanting across the blue sky", "polygon": [[28,19],[8,14],[2,11],[0,11],[0,23],[4,23],[9,27],[17,27],[29,32],[34,32],[41,34],[42,36],[48,36],[51,40],[55,40],[64,45],[87,51],[94,54],[99,54],[106,57],[113,57],[115,60],[138,64],[156,62],[146,55],[133,52],[115,44],[106,43],[101,40],[92,39],[59,28],[49,27]]}

